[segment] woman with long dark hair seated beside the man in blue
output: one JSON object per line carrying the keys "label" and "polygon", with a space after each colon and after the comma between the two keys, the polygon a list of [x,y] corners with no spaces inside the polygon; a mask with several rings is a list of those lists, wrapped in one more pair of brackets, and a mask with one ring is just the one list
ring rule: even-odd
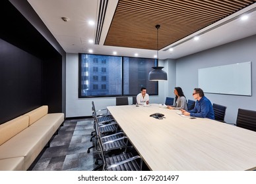
{"label": "woman with long dark hair seated beside the man in blue", "polygon": [[187,110],[187,99],[181,87],[174,87],[174,94],[176,95],[174,106],[168,106],[168,108]]}

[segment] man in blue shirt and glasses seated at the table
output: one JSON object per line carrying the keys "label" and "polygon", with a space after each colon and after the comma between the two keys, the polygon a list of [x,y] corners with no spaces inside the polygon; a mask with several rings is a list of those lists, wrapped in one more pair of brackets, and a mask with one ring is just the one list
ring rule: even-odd
{"label": "man in blue shirt and glasses seated at the table", "polygon": [[189,111],[181,110],[185,116],[209,118],[214,120],[214,112],[212,103],[205,97],[205,94],[201,88],[195,88],[193,91],[193,97],[197,100],[195,108]]}

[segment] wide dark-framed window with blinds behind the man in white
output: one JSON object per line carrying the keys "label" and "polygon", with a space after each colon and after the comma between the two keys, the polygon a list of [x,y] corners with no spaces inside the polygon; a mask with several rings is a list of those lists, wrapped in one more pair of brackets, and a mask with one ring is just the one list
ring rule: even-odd
{"label": "wide dark-framed window with blinds behind the man in white", "polygon": [[132,96],[141,87],[158,95],[158,82],[148,81],[152,66],[153,58],[79,54],[79,98]]}

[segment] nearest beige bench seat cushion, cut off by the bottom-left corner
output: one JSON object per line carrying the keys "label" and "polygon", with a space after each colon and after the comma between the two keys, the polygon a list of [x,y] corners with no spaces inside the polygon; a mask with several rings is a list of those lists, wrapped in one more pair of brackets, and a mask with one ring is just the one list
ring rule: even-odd
{"label": "nearest beige bench seat cushion, cut off by the bottom-left corner", "polygon": [[23,171],[24,156],[0,160],[0,171]]}

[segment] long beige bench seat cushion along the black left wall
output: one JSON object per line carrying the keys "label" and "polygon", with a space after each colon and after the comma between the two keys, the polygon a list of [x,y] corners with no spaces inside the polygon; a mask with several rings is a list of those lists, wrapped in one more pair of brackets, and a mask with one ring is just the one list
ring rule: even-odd
{"label": "long beige bench seat cushion along the black left wall", "polygon": [[46,114],[0,147],[0,159],[24,156],[27,170],[64,121],[63,113]]}

